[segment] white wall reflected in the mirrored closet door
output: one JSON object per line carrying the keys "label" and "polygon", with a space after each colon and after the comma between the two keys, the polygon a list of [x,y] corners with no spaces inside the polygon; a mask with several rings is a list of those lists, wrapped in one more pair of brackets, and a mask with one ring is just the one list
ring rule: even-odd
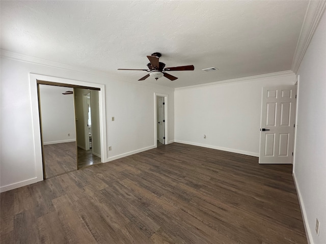
{"label": "white wall reflected in the mirrored closet door", "polygon": [[[76,140],[73,95],[63,95],[69,87],[40,85],[43,144]],[[68,136],[70,134],[70,136]]]}

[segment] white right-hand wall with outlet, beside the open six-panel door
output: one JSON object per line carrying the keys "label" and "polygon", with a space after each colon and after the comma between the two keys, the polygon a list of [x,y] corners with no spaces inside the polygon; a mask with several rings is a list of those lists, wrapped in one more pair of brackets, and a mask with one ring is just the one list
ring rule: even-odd
{"label": "white right-hand wall with outlet, beside the open six-panel door", "polygon": [[[298,84],[293,176],[311,243],[326,243],[326,14],[305,53]],[[316,218],[320,234],[315,231]]]}

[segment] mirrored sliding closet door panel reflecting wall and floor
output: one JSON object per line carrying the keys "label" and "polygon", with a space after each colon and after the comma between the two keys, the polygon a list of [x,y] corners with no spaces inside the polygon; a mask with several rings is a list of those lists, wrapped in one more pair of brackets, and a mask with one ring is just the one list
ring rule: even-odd
{"label": "mirrored sliding closet door panel reflecting wall and floor", "polygon": [[73,88],[39,84],[44,178],[77,170]]}

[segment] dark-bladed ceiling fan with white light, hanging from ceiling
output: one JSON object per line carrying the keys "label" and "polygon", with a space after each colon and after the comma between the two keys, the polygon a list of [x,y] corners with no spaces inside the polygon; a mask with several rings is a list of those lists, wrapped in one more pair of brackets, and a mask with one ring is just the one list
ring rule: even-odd
{"label": "dark-bladed ceiling fan with white light, hanging from ceiling", "polygon": [[186,65],[186,66],[177,66],[177,67],[169,67],[164,68],[165,64],[158,61],[161,54],[159,52],[154,52],[151,56],[147,56],[149,63],[147,64],[148,69],[142,70],[142,69],[118,69],[118,70],[142,70],[147,71],[149,74],[145,75],[144,77],[140,78],[139,80],[145,80],[149,76],[154,77],[155,80],[158,78],[161,78],[162,76],[170,79],[170,80],[176,80],[177,77],[170,75],[168,73],[165,73],[165,71],[184,71],[184,70],[195,70],[195,67],[193,65]]}

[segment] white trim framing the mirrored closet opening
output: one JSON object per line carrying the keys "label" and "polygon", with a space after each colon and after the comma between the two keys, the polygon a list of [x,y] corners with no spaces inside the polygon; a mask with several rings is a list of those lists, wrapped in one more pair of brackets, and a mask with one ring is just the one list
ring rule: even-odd
{"label": "white trim framing the mirrored closet opening", "polygon": [[101,162],[107,158],[106,151],[106,123],[105,123],[105,85],[90,83],[79,80],[64,79],[46,75],[30,73],[30,99],[32,108],[32,124],[34,135],[34,156],[35,156],[35,173],[37,181],[43,180],[43,164],[42,164],[42,146],[41,146],[41,133],[40,133],[40,115],[38,108],[38,95],[37,95],[37,80],[44,80],[49,82],[58,82],[63,84],[82,85],[100,88],[99,95],[99,112],[100,112],[100,141],[101,141]]}

